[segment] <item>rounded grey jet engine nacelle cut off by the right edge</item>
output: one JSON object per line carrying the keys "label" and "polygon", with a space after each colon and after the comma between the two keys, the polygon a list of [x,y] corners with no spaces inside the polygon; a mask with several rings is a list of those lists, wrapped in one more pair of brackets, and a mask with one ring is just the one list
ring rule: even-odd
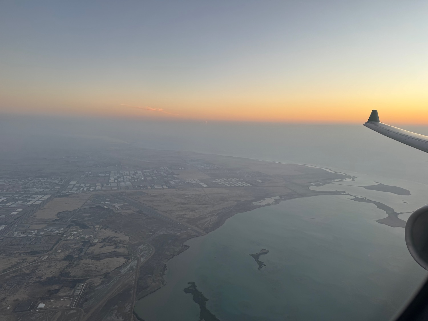
{"label": "rounded grey jet engine nacelle cut off by the right edge", "polygon": [[428,204],[410,215],[404,236],[413,259],[428,270]]}

